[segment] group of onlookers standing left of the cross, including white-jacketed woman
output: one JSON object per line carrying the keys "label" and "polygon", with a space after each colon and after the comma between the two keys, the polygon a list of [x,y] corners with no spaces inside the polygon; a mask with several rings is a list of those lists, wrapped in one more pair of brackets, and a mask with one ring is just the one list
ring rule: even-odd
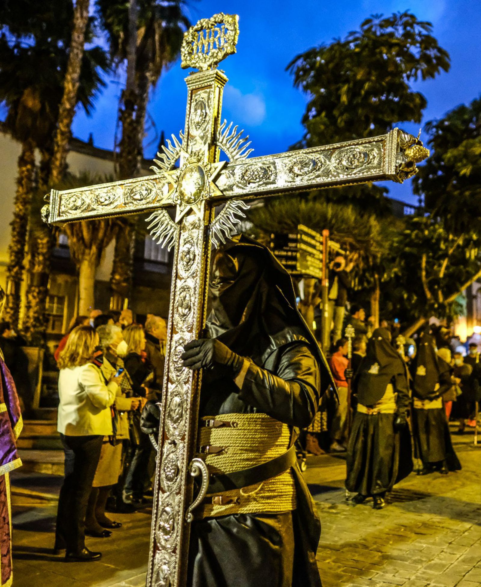
{"label": "group of onlookers standing left of the cross, including white-jacketed woman", "polygon": [[140,430],[147,400],[159,400],[166,322],[132,311],[78,316],[55,352],[58,431],[65,451],[55,550],[66,558],[100,558],[85,536],[109,538],[122,524],[106,514],[133,512],[152,492],[155,455]]}

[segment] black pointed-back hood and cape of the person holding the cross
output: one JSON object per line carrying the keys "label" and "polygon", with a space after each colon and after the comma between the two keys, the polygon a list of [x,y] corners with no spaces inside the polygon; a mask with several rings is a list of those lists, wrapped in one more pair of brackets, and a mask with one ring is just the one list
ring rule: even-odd
{"label": "black pointed-back hood and cape of the person holding the cross", "polygon": [[263,365],[274,350],[302,340],[321,371],[321,394],[334,385],[329,366],[295,303],[288,272],[271,251],[240,235],[217,249],[210,276],[207,330],[230,350]]}

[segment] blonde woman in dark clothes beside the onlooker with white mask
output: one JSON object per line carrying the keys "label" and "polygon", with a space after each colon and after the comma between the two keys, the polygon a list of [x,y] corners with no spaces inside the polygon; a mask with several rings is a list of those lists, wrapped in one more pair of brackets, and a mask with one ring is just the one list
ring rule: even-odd
{"label": "blonde woman in dark clothes beside the onlooker with white mask", "polygon": [[[123,330],[127,343],[124,365],[135,396],[146,398],[149,386],[154,383],[154,367],[147,360],[145,333],[140,324],[132,324]],[[142,406],[143,407],[143,406]],[[137,421],[136,421],[137,418]],[[140,430],[140,414],[134,414],[131,424],[132,461],[122,492],[123,501],[135,506],[142,505],[144,490],[149,484],[148,470],[152,444],[149,437]]]}

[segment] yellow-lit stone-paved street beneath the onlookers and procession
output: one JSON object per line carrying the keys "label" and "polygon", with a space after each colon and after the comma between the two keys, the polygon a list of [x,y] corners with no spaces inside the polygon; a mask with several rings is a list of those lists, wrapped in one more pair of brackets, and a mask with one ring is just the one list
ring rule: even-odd
{"label": "yellow-lit stone-paved street beneath the onlookers and procession", "polygon": [[[481,447],[468,444],[472,435],[453,439],[463,470],[412,474],[381,511],[345,501],[342,458],[310,458],[306,478],[322,521],[317,559],[324,587],[481,586]],[[52,554],[61,481],[21,469],[12,475],[14,587],[144,587],[149,508],[116,515],[123,527],[112,538],[88,538],[103,552],[101,561],[65,564]]]}

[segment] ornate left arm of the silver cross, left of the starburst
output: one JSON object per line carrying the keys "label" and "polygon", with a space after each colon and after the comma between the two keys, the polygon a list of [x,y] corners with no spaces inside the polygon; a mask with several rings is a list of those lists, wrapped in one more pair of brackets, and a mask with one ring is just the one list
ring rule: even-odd
{"label": "ornate left arm of the silver cross, left of the starburst", "polygon": [[65,224],[168,208],[173,205],[170,188],[166,177],[156,175],[73,190],[52,190],[42,217],[49,224]]}

